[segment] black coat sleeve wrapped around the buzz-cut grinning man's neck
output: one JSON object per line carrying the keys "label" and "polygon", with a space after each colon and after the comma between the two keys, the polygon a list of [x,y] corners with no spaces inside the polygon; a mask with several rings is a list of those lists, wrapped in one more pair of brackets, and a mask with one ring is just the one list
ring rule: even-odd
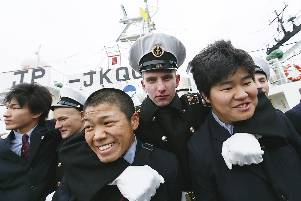
{"label": "black coat sleeve wrapped around the buzz-cut grinning man's neck", "polygon": [[101,162],[86,143],[84,131],[63,144],[59,157],[65,164],[64,177],[79,201],[90,200],[95,193],[103,193],[100,189],[105,189],[103,187],[130,165],[123,159]]}

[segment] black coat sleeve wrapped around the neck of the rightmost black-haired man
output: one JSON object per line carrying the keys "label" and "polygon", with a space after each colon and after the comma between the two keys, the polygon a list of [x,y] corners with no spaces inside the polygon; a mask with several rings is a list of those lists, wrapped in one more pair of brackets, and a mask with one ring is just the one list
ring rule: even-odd
{"label": "black coat sleeve wrapped around the neck of the rightmost black-haired man", "polygon": [[260,134],[259,143],[268,147],[281,147],[287,145],[287,137],[277,118],[275,108],[271,101],[261,90],[258,90],[258,104],[254,115],[247,120],[234,124],[233,133]]}

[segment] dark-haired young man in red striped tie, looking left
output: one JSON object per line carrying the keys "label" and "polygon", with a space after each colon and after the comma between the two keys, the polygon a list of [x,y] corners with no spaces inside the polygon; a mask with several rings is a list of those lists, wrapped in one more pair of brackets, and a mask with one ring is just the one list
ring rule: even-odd
{"label": "dark-haired young man in red striped tie, looking left", "polygon": [[51,93],[38,83],[11,87],[4,103],[6,130],[0,139],[1,200],[44,201],[55,190],[55,162],[61,133],[46,121]]}

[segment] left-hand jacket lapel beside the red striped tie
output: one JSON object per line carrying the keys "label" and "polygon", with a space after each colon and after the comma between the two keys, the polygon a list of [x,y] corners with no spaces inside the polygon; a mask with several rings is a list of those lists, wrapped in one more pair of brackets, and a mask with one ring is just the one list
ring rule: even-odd
{"label": "left-hand jacket lapel beside the red striped tie", "polygon": [[28,164],[27,161],[10,149],[10,144],[13,137],[14,131],[12,130],[1,145],[2,149],[0,151],[0,155],[11,162],[26,166]]}

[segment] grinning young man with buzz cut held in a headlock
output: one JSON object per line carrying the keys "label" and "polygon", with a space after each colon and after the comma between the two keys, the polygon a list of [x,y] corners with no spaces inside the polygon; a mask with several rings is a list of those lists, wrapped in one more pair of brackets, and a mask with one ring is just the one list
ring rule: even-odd
{"label": "grinning young man with buzz cut held in a headlock", "polygon": [[[139,125],[139,117],[129,95],[112,88],[98,90],[92,93],[85,102],[84,114],[85,140],[101,163],[107,163],[108,167],[114,166],[116,163],[113,162],[115,161],[123,161],[133,166],[140,165],[132,167],[133,172],[139,176],[138,180],[127,181],[132,192],[136,192],[133,195],[134,200],[144,200],[138,192],[144,192],[142,187],[148,186],[144,180],[149,175],[137,171],[141,169],[146,169],[148,174],[157,177],[158,180],[155,188],[151,189],[151,200],[181,200],[182,176],[178,159],[173,153],[142,143],[135,137],[134,132]],[[96,155],[94,154],[94,156]],[[170,167],[166,168],[167,165]],[[106,177],[106,175],[102,176]],[[63,179],[60,198],[76,200],[73,199],[74,196],[70,190],[66,191],[68,189],[67,183],[70,184],[68,177],[66,177],[66,181],[64,182]],[[90,182],[94,183],[93,181]],[[133,185],[137,182],[138,185]],[[117,189],[119,192],[114,185],[116,185],[116,181],[104,187],[102,194],[96,193],[93,200],[110,200],[110,197],[114,195],[113,189]],[[127,200],[125,197],[128,197],[126,193],[128,192],[121,191],[121,194],[117,194],[113,199],[125,201]]]}

